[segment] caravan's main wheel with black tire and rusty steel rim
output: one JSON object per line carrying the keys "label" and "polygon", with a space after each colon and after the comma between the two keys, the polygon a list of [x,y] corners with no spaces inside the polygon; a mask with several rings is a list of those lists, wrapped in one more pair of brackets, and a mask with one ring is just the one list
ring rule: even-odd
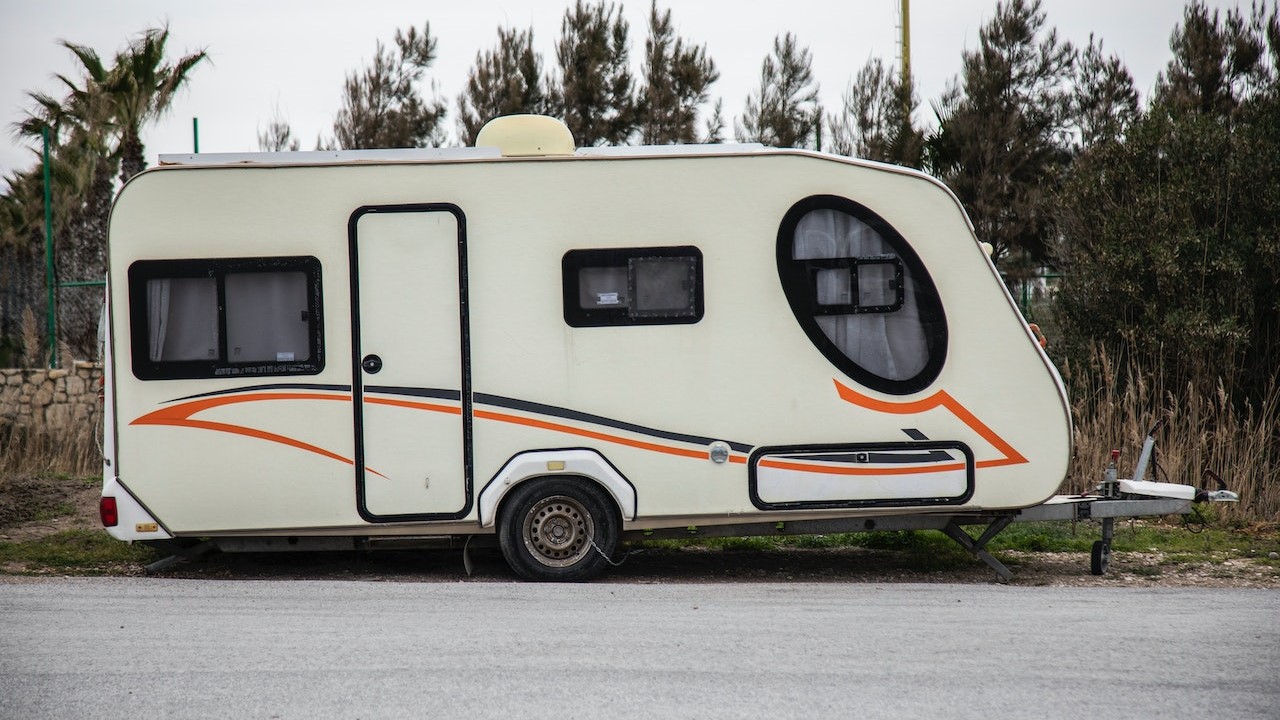
{"label": "caravan's main wheel with black tire and rusty steel rim", "polygon": [[498,512],[498,544],[526,580],[590,580],[618,547],[617,507],[600,486],[582,478],[526,480]]}

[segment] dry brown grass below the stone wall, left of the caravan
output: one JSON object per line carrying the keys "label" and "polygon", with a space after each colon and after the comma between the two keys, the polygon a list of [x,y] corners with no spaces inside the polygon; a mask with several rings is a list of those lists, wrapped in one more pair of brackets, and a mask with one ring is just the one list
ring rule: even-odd
{"label": "dry brown grass below the stone wall, left of the caravan", "polygon": [[65,428],[0,425],[0,477],[93,475],[102,470],[101,411]]}

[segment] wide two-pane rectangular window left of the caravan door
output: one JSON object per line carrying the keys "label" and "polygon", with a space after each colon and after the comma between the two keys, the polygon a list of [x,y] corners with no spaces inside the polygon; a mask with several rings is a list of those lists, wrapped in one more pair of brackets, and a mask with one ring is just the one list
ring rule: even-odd
{"label": "wide two-pane rectangular window left of the caravan door", "polygon": [[324,369],[315,258],[141,260],[129,266],[140,379]]}

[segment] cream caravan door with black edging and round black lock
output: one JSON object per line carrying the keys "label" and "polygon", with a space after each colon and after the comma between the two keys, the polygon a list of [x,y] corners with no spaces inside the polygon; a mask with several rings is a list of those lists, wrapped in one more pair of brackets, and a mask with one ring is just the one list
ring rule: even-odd
{"label": "cream caravan door with black edging and round black lock", "polygon": [[361,208],[348,238],[357,509],[371,523],[463,518],[471,388],[462,211]]}

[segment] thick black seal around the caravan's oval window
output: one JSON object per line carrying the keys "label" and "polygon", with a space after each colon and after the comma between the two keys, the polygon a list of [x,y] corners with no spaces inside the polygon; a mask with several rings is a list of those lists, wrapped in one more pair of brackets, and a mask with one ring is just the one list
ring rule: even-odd
{"label": "thick black seal around the caravan's oval window", "polygon": [[[840,347],[836,346],[836,343],[827,338],[827,334],[822,332],[822,328],[818,327],[817,318],[819,315],[831,315],[832,313],[814,313],[817,291],[813,290],[813,277],[810,275],[809,268],[813,263],[824,263],[831,259],[795,260],[791,256],[796,228],[799,227],[800,220],[814,210],[836,210],[861,220],[870,227],[872,231],[884,238],[886,242],[888,242],[906,269],[910,270],[911,278],[916,286],[916,304],[920,314],[920,323],[924,324],[925,346],[929,354],[924,368],[922,368],[914,377],[892,379],[867,370],[849,359],[840,350]],[[864,387],[877,389],[887,395],[911,395],[920,392],[938,378],[942,373],[942,366],[946,364],[948,345],[947,322],[946,313],[942,307],[942,297],[938,295],[938,290],[933,284],[933,278],[929,277],[928,270],[925,270],[924,263],[920,261],[920,256],[915,254],[911,245],[906,242],[906,238],[904,238],[902,234],[893,228],[893,225],[865,205],[855,202],[847,197],[840,197],[836,195],[813,195],[792,205],[791,209],[782,217],[782,223],[778,225],[776,249],[778,279],[782,283],[782,292],[786,295],[787,304],[791,306],[791,313],[795,315],[796,322],[800,324],[805,336],[809,337],[809,341],[813,342],[822,355],[841,373]]]}

